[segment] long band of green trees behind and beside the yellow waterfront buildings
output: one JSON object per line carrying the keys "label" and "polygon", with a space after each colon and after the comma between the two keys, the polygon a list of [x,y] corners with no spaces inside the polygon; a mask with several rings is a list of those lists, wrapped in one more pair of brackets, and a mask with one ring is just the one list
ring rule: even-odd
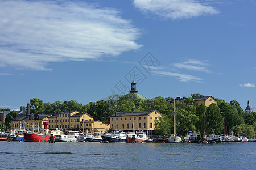
{"label": "long band of green trees behind and beside the yellow waterfront buildings", "polygon": [[[256,113],[246,114],[236,100],[230,103],[215,98],[217,104],[195,106],[193,97],[203,96],[191,94],[191,97],[182,101],[176,101],[176,129],[179,135],[186,135],[190,130],[195,130],[203,135],[203,121],[205,116],[205,134],[236,133],[251,136],[256,131]],[[163,114],[162,118],[155,121],[155,132],[159,134],[172,134],[174,126],[174,103],[167,102],[171,97],[154,97],[153,99],[140,100],[135,94],[112,95],[109,100],[99,100],[95,103],[81,104],[75,100],[68,102],[55,101],[43,103],[34,98],[30,100],[31,114],[53,114],[64,110],[77,110],[91,114],[94,120],[109,121],[115,112],[158,110]],[[10,114],[10,115],[9,115]],[[5,125],[10,128],[10,122],[16,116],[11,111],[6,116]],[[2,128],[2,124],[1,124]],[[224,131],[225,130],[225,131]]]}

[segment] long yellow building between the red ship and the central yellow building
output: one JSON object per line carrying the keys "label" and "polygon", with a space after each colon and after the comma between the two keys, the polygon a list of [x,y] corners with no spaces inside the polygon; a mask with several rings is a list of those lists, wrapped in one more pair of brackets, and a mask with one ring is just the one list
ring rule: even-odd
{"label": "long yellow building between the red ship and the central yellow building", "polygon": [[85,120],[92,121],[93,116],[80,111],[64,111],[53,114],[48,120],[49,129],[79,130],[82,127],[80,122]]}

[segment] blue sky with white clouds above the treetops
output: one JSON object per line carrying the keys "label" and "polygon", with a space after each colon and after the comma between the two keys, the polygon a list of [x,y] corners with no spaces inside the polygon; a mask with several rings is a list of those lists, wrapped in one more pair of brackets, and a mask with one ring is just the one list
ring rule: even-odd
{"label": "blue sky with white clouds above the treetops", "polygon": [[247,100],[256,110],[254,0],[0,0],[0,108],[107,100]]}

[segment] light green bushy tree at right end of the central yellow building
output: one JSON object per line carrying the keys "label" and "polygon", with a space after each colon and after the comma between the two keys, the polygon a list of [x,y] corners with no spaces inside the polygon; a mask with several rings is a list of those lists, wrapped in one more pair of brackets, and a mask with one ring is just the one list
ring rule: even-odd
{"label": "light green bushy tree at right end of the central yellow building", "polygon": [[171,127],[171,118],[168,116],[158,117],[157,120],[154,121],[155,125],[155,133],[167,135],[170,134]]}

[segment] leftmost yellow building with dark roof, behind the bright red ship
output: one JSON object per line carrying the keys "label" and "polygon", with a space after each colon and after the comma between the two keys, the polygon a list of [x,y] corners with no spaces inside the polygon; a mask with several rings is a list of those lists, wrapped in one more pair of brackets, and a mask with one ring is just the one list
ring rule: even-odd
{"label": "leftmost yellow building with dark roof, behind the bright red ship", "polygon": [[11,121],[11,128],[17,130],[38,130],[43,129],[44,121],[48,121],[48,117],[51,115],[47,114],[22,114],[18,115]]}

